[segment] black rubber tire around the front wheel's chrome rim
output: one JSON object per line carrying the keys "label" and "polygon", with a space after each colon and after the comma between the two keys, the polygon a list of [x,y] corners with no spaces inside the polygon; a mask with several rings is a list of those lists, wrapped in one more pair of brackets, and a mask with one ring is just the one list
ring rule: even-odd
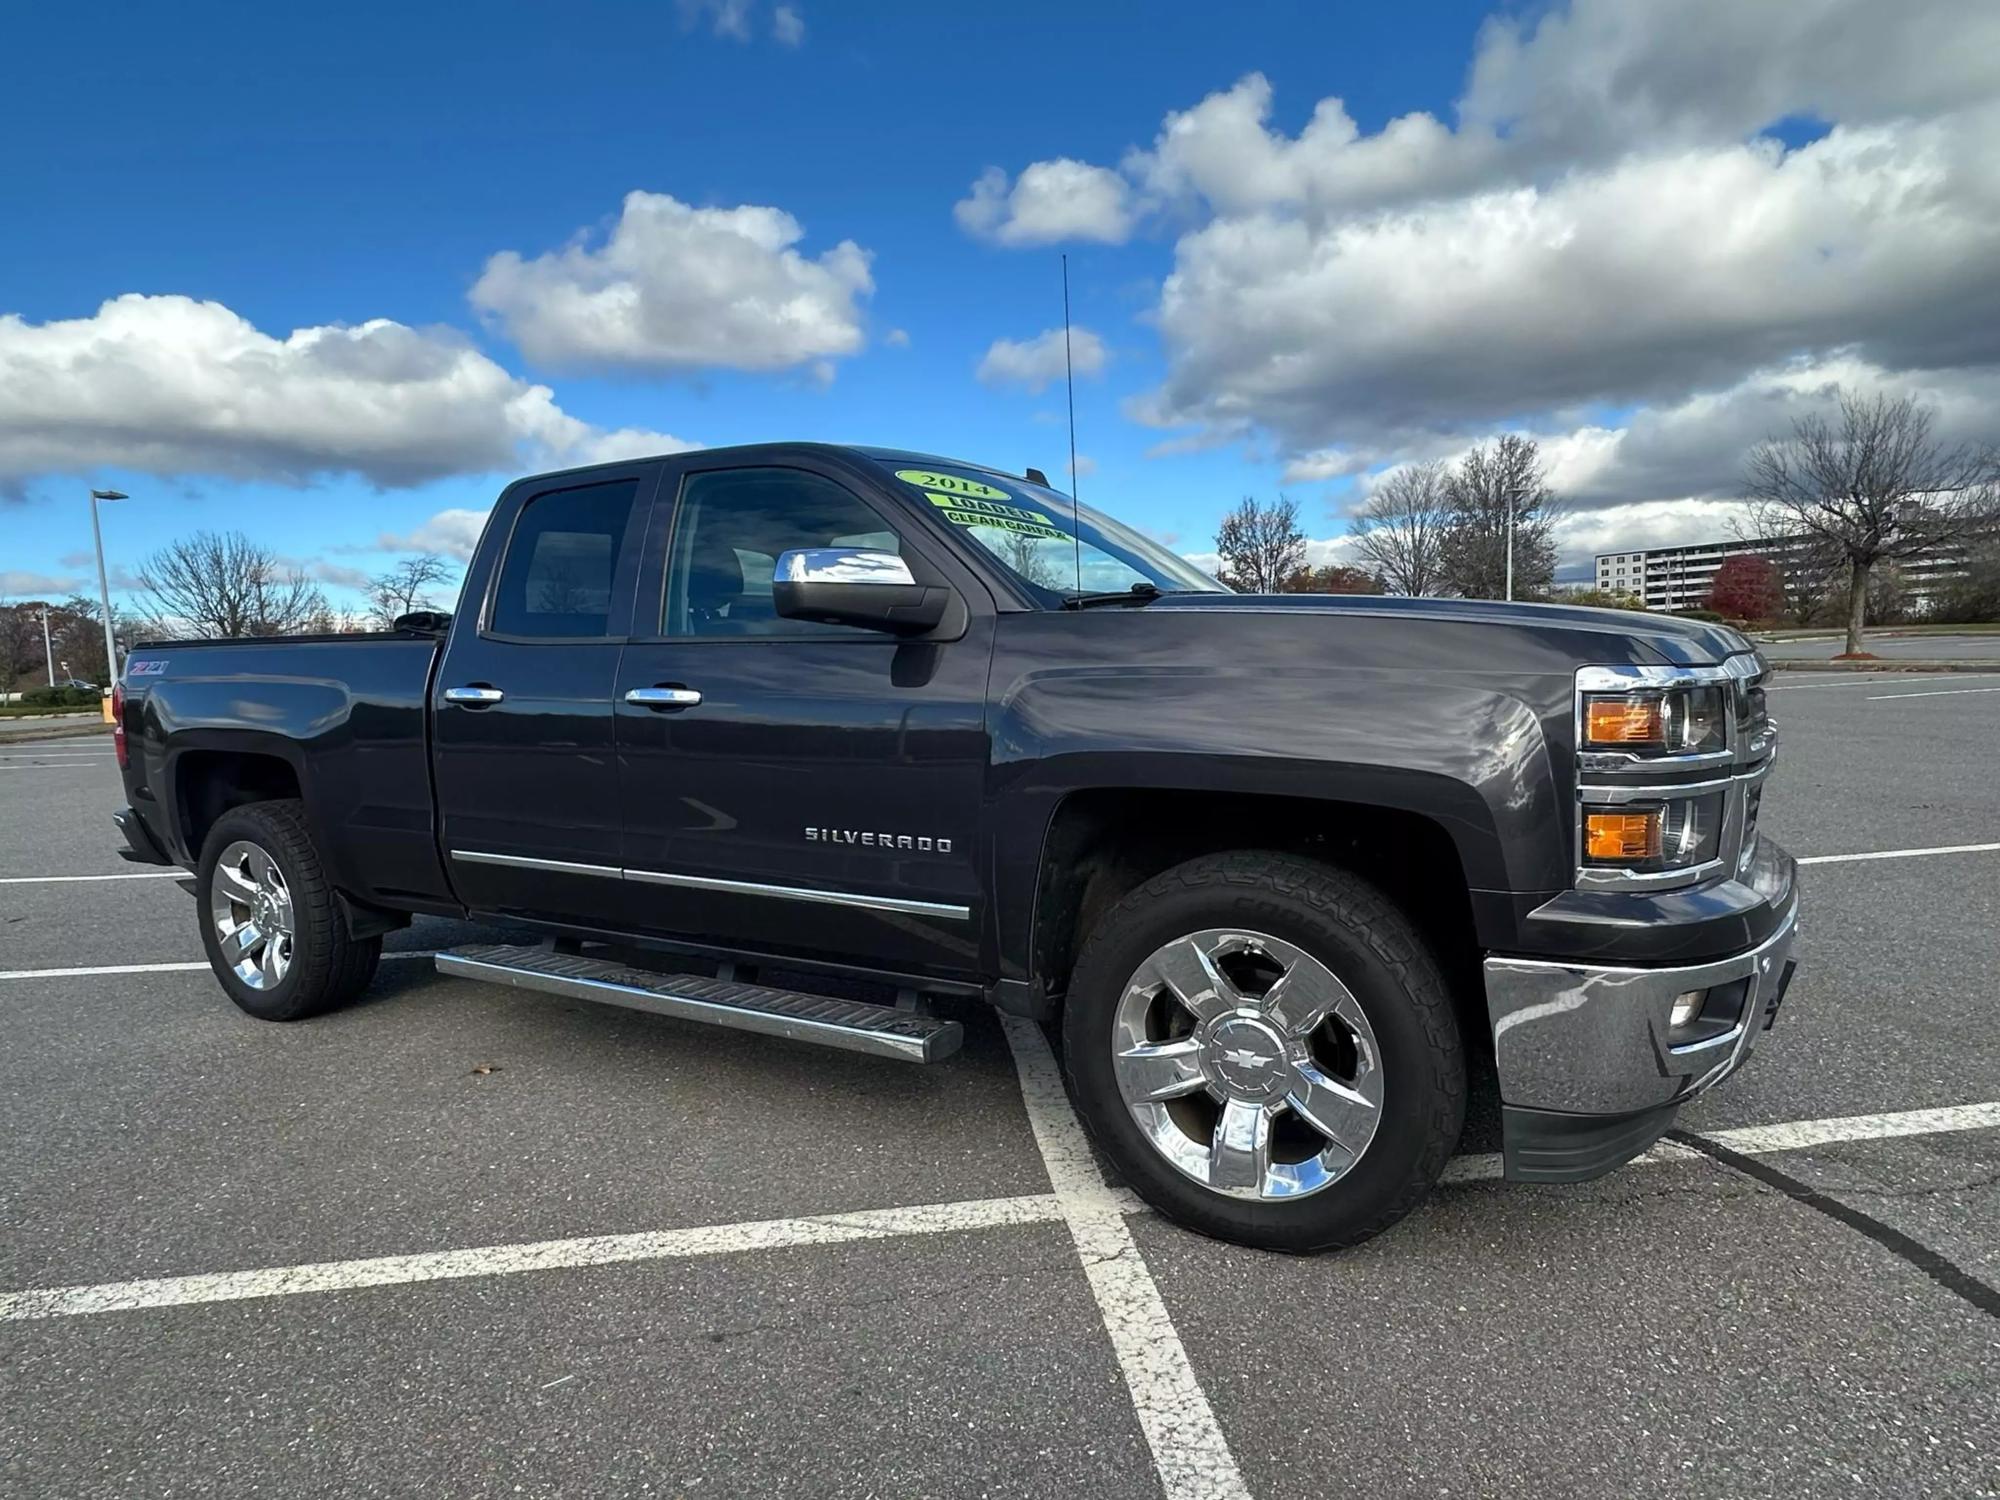
{"label": "black rubber tire around the front wheel's chrome rim", "polygon": [[[1278,878],[1166,890],[1154,882],[1100,924],[1064,1006],[1076,1108],[1140,1194],[1192,1228],[1274,1250],[1352,1244],[1402,1218],[1442,1172],[1464,1120],[1464,1056],[1434,962],[1408,920],[1372,888],[1320,872],[1328,878],[1360,886],[1390,922],[1352,924],[1284,890]],[[1158,1154],[1118,1092],[1110,1038],[1126,982],[1160,946],[1204,928],[1246,928],[1304,948],[1348,986],[1374,1028],[1382,1118],[1362,1158],[1320,1192],[1286,1202],[1212,1192]],[[1384,940],[1404,950],[1402,972],[1376,948]]]}

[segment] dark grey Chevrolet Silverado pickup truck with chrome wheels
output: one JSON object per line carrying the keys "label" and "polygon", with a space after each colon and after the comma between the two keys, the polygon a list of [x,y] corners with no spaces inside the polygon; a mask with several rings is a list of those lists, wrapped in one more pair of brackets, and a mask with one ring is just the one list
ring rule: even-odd
{"label": "dark grey Chevrolet Silverado pickup truck with chrome wheels", "polygon": [[[1764,660],[1688,620],[1244,596],[956,460],[770,444],[510,484],[452,616],[164,642],[130,858],[252,1016],[446,974],[936,1062],[1060,1026],[1118,1172],[1318,1250],[1408,1212],[1492,1076],[1568,1182],[1738,1068],[1792,974]],[[940,1014],[942,1012],[942,1014]]]}

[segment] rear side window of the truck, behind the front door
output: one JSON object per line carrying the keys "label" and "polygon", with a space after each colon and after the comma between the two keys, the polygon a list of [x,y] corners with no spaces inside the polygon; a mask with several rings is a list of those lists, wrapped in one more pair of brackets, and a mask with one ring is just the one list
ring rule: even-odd
{"label": "rear side window of the truck, behind the front door", "polygon": [[520,508],[490,630],[502,636],[608,636],[612,582],[638,480],[544,490]]}

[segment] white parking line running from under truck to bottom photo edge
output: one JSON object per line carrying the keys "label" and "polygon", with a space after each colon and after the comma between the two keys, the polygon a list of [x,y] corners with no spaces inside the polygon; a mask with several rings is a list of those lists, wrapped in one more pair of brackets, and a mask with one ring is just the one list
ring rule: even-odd
{"label": "white parking line running from under truck to bottom photo edge", "polygon": [[1250,1486],[1194,1378],[1188,1350],[1174,1332],[1132,1226],[1098,1174],[1042,1028],[1006,1014],[1000,1026],[1014,1050],[1034,1144],[1076,1252],[1084,1258],[1084,1276],[1132,1392],[1132,1410],[1152,1448],[1160,1488],[1168,1500],[1248,1500]]}

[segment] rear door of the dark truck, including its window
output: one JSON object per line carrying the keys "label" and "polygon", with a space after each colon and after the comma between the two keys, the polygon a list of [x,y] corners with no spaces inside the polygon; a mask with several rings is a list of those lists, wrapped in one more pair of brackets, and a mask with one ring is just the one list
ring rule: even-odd
{"label": "rear door of the dark truck, including its window", "polygon": [[658,468],[530,480],[486,524],[432,698],[438,828],[474,910],[606,926],[612,688]]}

